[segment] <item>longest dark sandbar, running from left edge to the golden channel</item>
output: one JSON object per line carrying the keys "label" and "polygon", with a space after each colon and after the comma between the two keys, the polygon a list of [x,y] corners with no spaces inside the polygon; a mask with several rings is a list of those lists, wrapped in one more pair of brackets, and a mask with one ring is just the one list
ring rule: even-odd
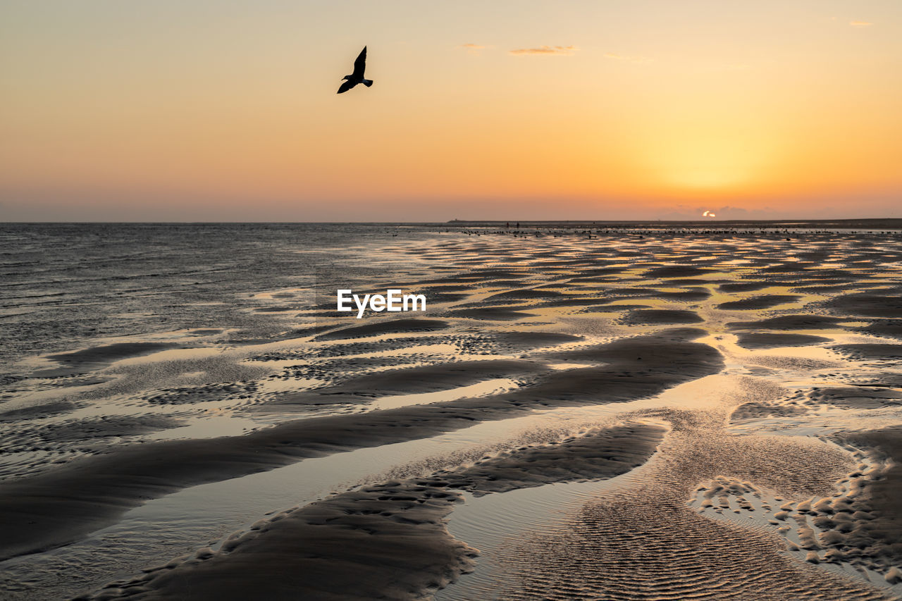
{"label": "longest dark sandbar, running from left edge to the golden channel", "polygon": [[[603,365],[545,374],[538,384],[489,397],[459,399],[361,415],[287,421],[244,436],[164,440],[72,461],[0,487],[0,559],[58,547],[83,537],[147,499],[190,485],[281,467],[302,458],[459,430],[544,407],[625,402],[715,374],[723,357],[687,342],[704,330],[548,354]],[[103,499],[103,503],[98,503]]]}

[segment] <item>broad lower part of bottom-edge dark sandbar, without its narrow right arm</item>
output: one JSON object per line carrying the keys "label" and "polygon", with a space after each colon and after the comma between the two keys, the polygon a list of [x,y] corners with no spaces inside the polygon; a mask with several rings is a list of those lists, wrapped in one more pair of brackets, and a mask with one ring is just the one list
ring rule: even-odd
{"label": "broad lower part of bottom-edge dark sandbar, without its narrow right arm", "polygon": [[461,500],[410,483],[366,486],[78,599],[422,599],[474,566],[477,551],[445,526]]}

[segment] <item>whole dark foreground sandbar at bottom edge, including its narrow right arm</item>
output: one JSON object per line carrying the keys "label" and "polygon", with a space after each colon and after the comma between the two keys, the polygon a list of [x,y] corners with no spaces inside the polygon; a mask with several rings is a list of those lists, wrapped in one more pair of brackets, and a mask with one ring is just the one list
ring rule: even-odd
{"label": "whole dark foreground sandbar at bottom edge, including its narrow right arm", "polygon": [[[520,448],[472,467],[336,495],[282,514],[175,567],[93,598],[419,599],[473,567],[476,551],[445,528],[456,490],[502,493],[624,474],[654,453],[666,429],[628,424],[549,446]],[[91,598],[91,597],[87,597]]]}

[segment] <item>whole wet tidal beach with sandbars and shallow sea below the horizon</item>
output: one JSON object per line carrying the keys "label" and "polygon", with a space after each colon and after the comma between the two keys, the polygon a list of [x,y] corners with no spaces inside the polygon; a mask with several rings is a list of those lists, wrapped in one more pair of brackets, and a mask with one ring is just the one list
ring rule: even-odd
{"label": "whole wet tidal beach with sandbars and shallow sea below the horizon", "polygon": [[896,222],[0,239],[4,598],[902,598]]}

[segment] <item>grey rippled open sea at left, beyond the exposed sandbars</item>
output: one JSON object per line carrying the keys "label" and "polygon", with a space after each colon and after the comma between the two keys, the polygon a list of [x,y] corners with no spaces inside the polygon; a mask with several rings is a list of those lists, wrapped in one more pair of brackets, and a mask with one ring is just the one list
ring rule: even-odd
{"label": "grey rippled open sea at left, beyond the exposed sandbars", "polygon": [[[317,304],[315,282],[358,282],[361,255],[397,227],[353,224],[0,225],[0,378],[30,356],[109,337],[221,329],[226,344],[276,336],[258,294],[297,289],[291,308]],[[405,234],[417,236],[415,232]]]}

